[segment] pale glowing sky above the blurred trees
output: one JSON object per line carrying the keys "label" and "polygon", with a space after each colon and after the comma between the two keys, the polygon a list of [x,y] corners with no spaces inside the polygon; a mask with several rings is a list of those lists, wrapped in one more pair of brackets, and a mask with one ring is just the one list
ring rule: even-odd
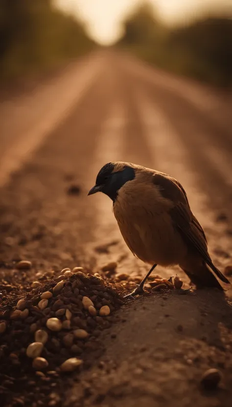
{"label": "pale glowing sky above the blurred trees", "polygon": [[[122,19],[142,0],[54,0],[62,9],[79,15],[90,35],[102,44],[113,43],[121,33]],[[232,0],[150,0],[160,16],[175,22],[205,10],[224,9],[232,13]]]}

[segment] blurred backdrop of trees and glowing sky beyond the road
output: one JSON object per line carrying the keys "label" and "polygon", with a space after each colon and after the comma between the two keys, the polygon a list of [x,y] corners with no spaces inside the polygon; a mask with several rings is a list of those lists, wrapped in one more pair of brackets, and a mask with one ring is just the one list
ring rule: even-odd
{"label": "blurred backdrop of trees and glowing sky beyond the road", "polygon": [[0,0],[1,80],[47,70],[99,46],[228,88],[232,2]]}

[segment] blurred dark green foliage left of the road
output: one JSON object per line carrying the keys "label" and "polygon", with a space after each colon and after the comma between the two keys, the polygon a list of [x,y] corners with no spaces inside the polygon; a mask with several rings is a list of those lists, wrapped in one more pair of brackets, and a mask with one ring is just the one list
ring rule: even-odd
{"label": "blurred dark green foliage left of the road", "polygon": [[0,1],[0,72],[3,77],[41,70],[93,47],[81,23],[50,0]]}

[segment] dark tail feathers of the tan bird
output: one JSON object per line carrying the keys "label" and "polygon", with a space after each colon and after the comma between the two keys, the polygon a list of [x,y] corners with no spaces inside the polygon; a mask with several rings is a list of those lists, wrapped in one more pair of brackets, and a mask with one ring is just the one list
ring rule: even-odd
{"label": "dark tail feathers of the tan bird", "polygon": [[[230,283],[226,277],[215,267],[213,266],[214,273],[224,282]],[[216,271],[215,271],[216,270]],[[219,290],[224,290],[219,281],[216,279],[214,274],[209,270],[207,264],[205,262],[202,263],[201,267],[198,267],[197,270],[194,270],[194,273],[188,270],[184,270],[191,280],[193,284],[196,285],[197,288],[218,288]]]}

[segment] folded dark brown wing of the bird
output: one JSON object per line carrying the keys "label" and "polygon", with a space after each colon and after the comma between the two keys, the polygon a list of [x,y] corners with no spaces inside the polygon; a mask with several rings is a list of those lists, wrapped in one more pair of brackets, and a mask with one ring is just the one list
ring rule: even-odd
{"label": "folded dark brown wing of the bird", "polygon": [[173,202],[170,216],[174,227],[179,230],[188,246],[190,245],[201,254],[207,263],[211,263],[206,235],[198,220],[191,212],[183,186],[175,178],[160,173],[154,174],[153,183],[159,187],[164,198]]}

